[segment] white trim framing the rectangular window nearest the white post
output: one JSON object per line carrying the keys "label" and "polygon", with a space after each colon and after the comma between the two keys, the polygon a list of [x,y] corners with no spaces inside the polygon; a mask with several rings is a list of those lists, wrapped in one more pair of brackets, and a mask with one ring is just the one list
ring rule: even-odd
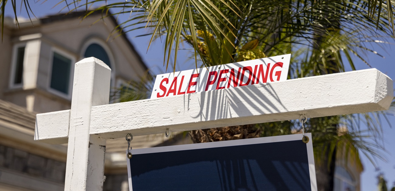
{"label": "white trim framing the rectangular window nearest the white post", "polygon": [[[51,88],[52,67],[53,67],[53,56],[54,56],[54,53],[55,53],[55,52],[71,60],[71,63],[70,63],[70,64],[71,64],[71,67],[70,67],[70,77],[69,77],[69,91],[68,91],[69,93],[68,93],[68,94],[63,93],[63,92],[61,92],[61,91],[58,91],[58,90],[56,90],[56,89]],[[58,49],[58,48],[56,48],[56,47],[52,47],[52,48],[51,48],[51,53],[50,53],[50,55],[49,55],[48,83],[47,83],[47,90],[48,90],[50,93],[53,93],[54,95],[57,95],[57,96],[59,96],[59,97],[62,97],[62,98],[71,100],[71,95],[72,95],[72,91],[73,91],[73,86],[72,86],[72,84],[73,84],[73,76],[74,76],[74,75],[73,75],[73,74],[74,74],[74,65],[75,65],[75,57],[74,57],[73,55],[71,55],[70,53],[67,53],[66,51],[63,51],[63,50],[61,50],[61,49]]]}

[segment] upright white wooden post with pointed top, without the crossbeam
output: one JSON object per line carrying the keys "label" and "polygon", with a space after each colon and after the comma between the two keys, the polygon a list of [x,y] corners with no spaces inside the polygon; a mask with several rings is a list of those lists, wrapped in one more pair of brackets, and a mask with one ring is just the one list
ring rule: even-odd
{"label": "upright white wooden post with pointed top, without the crossbeam", "polygon": [[105,139],[89,135],[92,106],[108,104],[111,69],[94,57],[75,63],[64,190],[102,190]]}

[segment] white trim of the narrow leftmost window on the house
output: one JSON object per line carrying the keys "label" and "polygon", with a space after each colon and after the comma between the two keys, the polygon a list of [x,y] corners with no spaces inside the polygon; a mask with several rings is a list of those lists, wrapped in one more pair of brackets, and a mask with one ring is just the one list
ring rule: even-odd
{"label": "white trim of the narrow leftmost window on the house", "polygon": [[25,47],[25,51],[24,51],[24,55],[23,55],[23,65],[26,65],[26,42],[23,43],[17,43],[12,47],[12,58],[11,58],[11,71],[10,71],[10,75],[9,75],[9,83],[8,83],[8,87],[9,89],[19,89],[19,88],[23,88],[23,72],[22,72],[22,82],[20,84],[15,84],[14,83],[14,78],[15,78],[15,70],[17,68],[17,51],[18,48],[20,47]]}

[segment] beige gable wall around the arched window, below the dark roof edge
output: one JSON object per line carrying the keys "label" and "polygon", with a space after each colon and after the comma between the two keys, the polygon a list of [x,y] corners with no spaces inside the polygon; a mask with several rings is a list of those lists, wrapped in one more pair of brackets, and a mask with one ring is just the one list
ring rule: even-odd
{"label": "beige gable wall around the arched window, below the dark roof edge", "polygon": [[[114,39],[109,36],[111,34],[110,28],[115,27],[112,21],[106,18],[105,23],[100,20],[94,25],[91,24],[98,19],[100,17],[87,18],[81,22],[76,22],[78,19],[70,19],[63,22],[50,23],[42,27],[41,33],[47,41],[53,42],[53,45],[62,45],[59,48],[75,54],[77,61],[83,59],[85,43],[95,38],[107,44],[110,60],[113,59],[114,62],[111,64],[112,67],[115,66],[115,76],[124,79],[138,79],[137,74],[145,72],[142,64],[137,63],[139,61],[134,54],[130,54],[132,50],[122,37]],[[59,38],[59,36],[62,38]]]}

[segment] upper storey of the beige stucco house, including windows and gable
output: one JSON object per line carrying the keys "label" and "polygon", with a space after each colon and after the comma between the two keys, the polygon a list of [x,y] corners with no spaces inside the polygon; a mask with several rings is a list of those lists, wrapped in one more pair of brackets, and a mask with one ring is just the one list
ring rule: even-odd
{"label": "upper storey of the beige stucco house, including windows and gable", "polygon": [[[28,111],[70,109],[74,63],[97,57],[111,68],[111,86],[147,70],[134,46],[121,35],[110,39],[114,17],[101,12],[81,19],[83,12],[51,15],[18,26],[5,22],[0,57],[0,98]],[[92,24],[96,22],[95,24]],[[45,103],[45,104],[44,104]]]}

